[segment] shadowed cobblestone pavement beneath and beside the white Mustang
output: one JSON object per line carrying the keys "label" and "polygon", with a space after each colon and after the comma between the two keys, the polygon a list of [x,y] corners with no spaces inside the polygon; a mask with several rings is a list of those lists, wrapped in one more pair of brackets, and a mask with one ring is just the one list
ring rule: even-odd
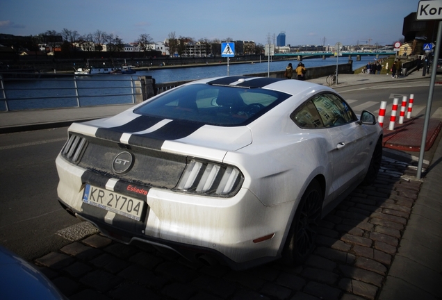
{"label": "shadowed cobblestone pavement beneath and beside the white Mustang", "polygon": [[71,300],[377,299],[418,197],[413,176],[413,166],[383,157],[377,181],[322,219],[316,251],[297,267],[274,262],[235,272],[99,233],[34,263]]}

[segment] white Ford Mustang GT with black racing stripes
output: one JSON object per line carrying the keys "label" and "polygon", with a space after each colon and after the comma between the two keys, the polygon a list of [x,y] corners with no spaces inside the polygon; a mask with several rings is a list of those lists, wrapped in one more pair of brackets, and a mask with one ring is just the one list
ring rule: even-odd
{"label": "white Ford Mustang GT with black racing stripes", "polygon": [[72,124],[61,205],[114,240],[233,269],[301,263],[321,217],[374,181],[382,128],[331,88],[227,76]]}

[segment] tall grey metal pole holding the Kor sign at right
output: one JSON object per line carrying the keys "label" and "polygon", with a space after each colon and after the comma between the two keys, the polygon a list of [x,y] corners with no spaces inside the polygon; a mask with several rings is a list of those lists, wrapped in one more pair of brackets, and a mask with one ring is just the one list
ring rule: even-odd
{"label": "tall grey metal pole holding the Kor sign at right", "polygon": [[436,49],[434,51],[434,58],[433,58],[432,77],[429,81],[427,110],[425,110],[424,128],[423,128],[423,133],[422,133],[422,140],[420,141],[418,173],[416,174],[416,178],[418,178],[418,179],[420,179],[420,176],[422,174],[423,157],[424,157],[424,153],[425,153],[425,143],[427,141],[429,114],[432,111],[434,83],[436,82],[437,60],[439,59],[439,51],[441,51],[441,44],[442,44],[441,36],[442,36],[442,21],[439,21],[439,27],[437,29],[437,38],[436,38],[436,40],[437,40]]}

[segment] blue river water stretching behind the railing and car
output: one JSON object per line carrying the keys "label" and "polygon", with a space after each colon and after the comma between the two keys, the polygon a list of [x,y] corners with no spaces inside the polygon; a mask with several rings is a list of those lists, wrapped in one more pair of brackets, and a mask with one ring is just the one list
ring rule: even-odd
{"label": "blue river water stretching behind the railing and car", "polygon": [[[376,60],[375,56],[362,56],[360,61],[357,61],[356,57],[352,59],[354,70]],[[234,58],[231,58],[231,61],[234,61]],[[325,60],[306,59],[302,63],[308,69],[347,62],[348,57],[340,57],[338,60],[332,57]],[[229,64],[229,75],[267,73],[269,70],[283,71],[288,63],[292,63],[293,67],[298,64],[297,60],[278,60],[270,63],[263,60],[261,63],[253,64]],[[4,81],[4,92],[8,101],[2,101],[0,94],[0,111],[132,103],[131,79],[136,80],[138,76],[152,76],[156,83],[167,83],[227,76],[227,70],[227,65],[209,65],[138,71],[131,75],[85,76],[77,77],[76,81],[66,76],[42,80]]]}

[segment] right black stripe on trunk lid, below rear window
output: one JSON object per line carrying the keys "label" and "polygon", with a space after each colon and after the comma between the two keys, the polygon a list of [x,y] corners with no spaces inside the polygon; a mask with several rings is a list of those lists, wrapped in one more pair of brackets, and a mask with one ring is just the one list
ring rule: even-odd
{"label": "right black stripe on trunk lid, below rear window", "polygon": [[164,141],[186,138],[186,136],[191,135],[202,126],[204,126],[204,124],[174,120],[152,133],[131,135],[131,138],[129,138],[129,144],[161,150]]}

